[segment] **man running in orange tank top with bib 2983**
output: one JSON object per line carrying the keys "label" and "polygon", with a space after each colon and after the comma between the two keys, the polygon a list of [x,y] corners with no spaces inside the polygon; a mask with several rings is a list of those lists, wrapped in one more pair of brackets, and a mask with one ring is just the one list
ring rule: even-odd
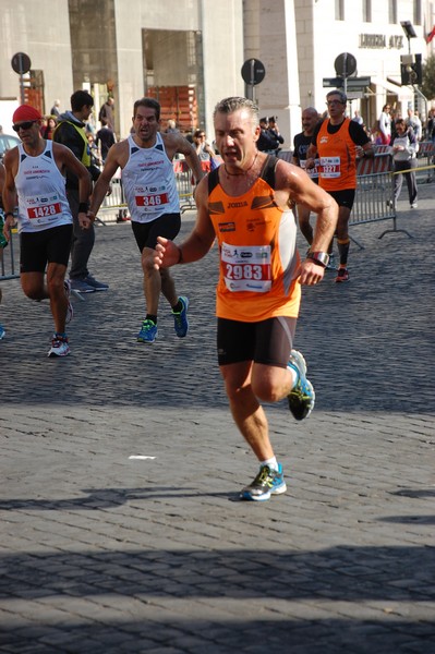
{"label": "man running in orange tank top with bib 2983", "polygon": [[[233,420],[259,462],[241,497],[264,501],[287,487],[261,402],[287,397],[297,420],[313,409],[314,389],[293,337],[300,286],[323,279],[338,207],[300,168],[257,150],[258,109],[251,100],[221,100],[214,122],[223,164],[200,182],[196,225],[181,246],[158,238],[155,266],[195,262],[218,242],[218,361]],[[317,214],[302,263],[292,203]]]}

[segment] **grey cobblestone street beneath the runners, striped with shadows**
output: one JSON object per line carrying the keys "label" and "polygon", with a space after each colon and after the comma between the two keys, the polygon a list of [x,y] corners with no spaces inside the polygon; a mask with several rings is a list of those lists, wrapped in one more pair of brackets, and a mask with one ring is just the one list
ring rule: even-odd
{"label": "grey cobblestone street beneath the runners, striped with shadows", "polygon": [[61,361],[47,304],[2,283],[1,654],[435,652],[433,206],[400,204],[412,240],[354,228],[351,282],[305,290],[317,404],[268,408],[289,489],[259,506],[238,501],[256,463],[216,365],[215,253],[176,270],[189,337],[161,306],[147,347],[130,226],[98,228],[111,289],[74,300]]}

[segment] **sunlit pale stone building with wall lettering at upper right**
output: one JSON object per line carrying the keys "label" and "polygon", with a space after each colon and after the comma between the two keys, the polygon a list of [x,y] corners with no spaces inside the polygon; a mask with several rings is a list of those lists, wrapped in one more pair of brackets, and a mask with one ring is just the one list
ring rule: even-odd
{"label": "sunlit pale stone building with wall lettering at upper right", "polygon": [[[244,55],[261,60],[266,69],[264,82],[254,89],[256,100],[263,114],[278,117],[281,133],[289,136],[288,147],[301,131],[301,109],[326,109],[331,87],[324,84],[337,76],[335,62],[343,53],[357,62],[347,83],[349,113],[359,110],[370,128],[386,102],[403,114],[411,105],[423,117],[426,113],[418,87],[400,85],[400,65],[409,52],[420,53],[424,61],[433,51],[435,39],[426,44],[435,25],[433,2],[250,0],[243,20]],[[413,26],[414,37],[407,38],[404,21]]]}

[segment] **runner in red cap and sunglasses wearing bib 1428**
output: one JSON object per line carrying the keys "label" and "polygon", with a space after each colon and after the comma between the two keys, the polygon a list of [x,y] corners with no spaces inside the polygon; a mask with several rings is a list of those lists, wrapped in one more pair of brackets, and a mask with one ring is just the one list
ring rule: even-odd
{"label": "runner in red cap and sunglasses wearing bib 1428", "polygon": [[20,278],[31,300],[50,300],[55,334],[49,356],[70,353],[65,323],[72,318],[70,286],[65,271],[72,238],[72,215],[65,195],[65,170],[80,181],[80,223],[92,225],[86,216],[90,180],[86,168],[71,150],[40,135],[43,116],[31,105],[13,113],[13,130],[22,143],[4,156],[4,237],[10,240],[15,223],[15,197],[20,232]]}

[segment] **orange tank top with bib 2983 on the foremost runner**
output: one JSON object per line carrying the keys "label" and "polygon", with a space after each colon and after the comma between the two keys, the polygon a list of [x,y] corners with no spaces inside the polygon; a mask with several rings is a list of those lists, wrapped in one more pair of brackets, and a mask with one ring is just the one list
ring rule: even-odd
{"label": "orange tank top with bib 2983 on the foremost runner", "polygon": [[256,323],[297,317],[301,300],[297,225],[290,208],[275,201],[275,167],[268,157],[252,189],[227,195],[219,171],[208,175],[208,213],[219,245],[216,314]]}

